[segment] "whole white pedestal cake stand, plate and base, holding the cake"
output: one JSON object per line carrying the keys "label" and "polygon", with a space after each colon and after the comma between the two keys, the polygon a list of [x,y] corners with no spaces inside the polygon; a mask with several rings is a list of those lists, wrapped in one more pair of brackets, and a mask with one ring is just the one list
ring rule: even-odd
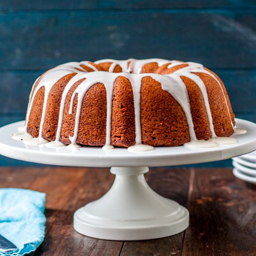
{"label": "whole white pedestal cake stand, plate and base, holding the cake", "polygon": [[236,119],[246,134],[235,135],[237,144],[204,150],[160,147],[145,153],[126,148],[103,151],[82,147],[28,146],[13,140],[12,134],[24,121],[0,128],[0,154],[28,162],[63,166],[112,167],[115,182],[106,195],[74,213],[74,229],[79,233],[108,240],[144,240],[175,235],[189,225],[189,212],[173,200],[156,194],[144,179],[145,166],[170,166],[212,162],[256,150],[256,124]]}

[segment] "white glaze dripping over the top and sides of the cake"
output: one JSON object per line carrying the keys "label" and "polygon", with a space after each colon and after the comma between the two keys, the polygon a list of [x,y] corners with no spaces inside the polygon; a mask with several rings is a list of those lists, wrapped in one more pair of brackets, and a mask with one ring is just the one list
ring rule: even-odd
{"label": "white glaze dripping over the top and sides of the cake", "polygon": [[[95,83],[102,83],[104,84],[107,92],[107,124],[106,124],[106,144],[104,149],[112,148],[111,146],[111,115],[112,115],[112,96],[113,96],[113,88],[114,88],[114,82],[115,79],[118,76],[124,76],[127,77],[132,84],[133,88],[133,94],[134,94],[134,107],[135,107],[135,144],[136,146],[141,146],[141,123],[140,123],[140,90],[141,90],[141,79],[143,77],[146,77],[150,75],[154,80],[158,81],[162,85],[162,89],[168,91],[175,100],[181,105],[181,107],[184,110],[184,113],[187,118],[187,122],[189,125],[189,135],[190,140],[197,141],[194,131],[194,125],[192,121],[192,116],[190,112],[190,104],[189,104],[189,96],[186,89],[185,84],[183,83],[181,76],[186,76],[192,81],[194,81],[198,87],[202,91],[203,99],[205,101],[205,107],[207,110],[208,120],[209,120],[209,127],[212,133],[212,136],[215,137],[214,132],[214,125],[212,121],[211,111],[209,107],[209,101],[208,101],[208,95],[205,88],[205,85],[203,81],[200,79],[198,75],[195,73],[205,73],[213,77],[219,84],[220,88],[222,89],[222,86],[220,82],[217,80],[217,78],[211,74],[209,71],[205,70],[204,67],[201,64],[194,63],[194,62],[182,62],[182,61],[168,61],[164,59],[146,59],[146,60],[135,60],[135,59],[128,59],[126,61],[117,61],[112,59],[106,59],[106,60],[100,60],[95,61],[95,64],[100,64],[103,62],[112,62],[112,64],[109,67],[109,72],[103,72],[98,71],[96,67],[94,67],[92,64],[90,64],[88,61],[82,61],[82,62],[68,62],[66,64],[59,65],[57,67],[54,67],[53,69],[48,70],[45,74],[41,75],[34,83],[33,88],[34,92],[30,94],[30,100],[28,104],[27,109],[27,118],[26,118],[26,125],[25,129],[27,129],[27,123],[30,115],[31,108],[33,106],[34,98],[37,92],[40,88],[45,88],[45,94],[44,94],[44,104],[43,104],[43,111],[42,111],[42,117],[40,121],[40,128],[39,128],[39,137],[37,140],[34,140],[34,144],[38,143],[46,143],[45,140],[42,139],[42,129],[43,129],[43,123],[44,118],[46,114],[46,108],[47,108],[47,99],[49,96],[49,93],[51,89],[53,88],[54,84],[60,80],[62,77],[64,77],[67,74],[75,73],[74,77],[67,83],[62,97],[61,97],[61,104],[60,104],[60,113],[59,113],[59,121],[56,131],[56,143],[48,143],[49,146],[51,145],[61,145],[60,142],[60,136],[61,136],[61,125],[63,121],[63,113],[64,113],[64,107],[65,107],[65,101],[67,98],[67,94],[72,88],[72,86],[75,84],[75,82],[85,79],[85,81],[82,81],[80,85],[75,89],[74,93],[72,94],[71,102],[70,102],[70,108],[69,108],[69,114],[74,115],[75,114],[75,126],[74,126],[74,135],[69,135],[69,139],[71,141],[71,145],[69,145],[69,148],[78,148],[79,145],[76,144],[76,139],[79,131],[79,121],[80,121],[80,114],[81,114],[81,107],[82,107],[82,101],[87,93],[88,89],[93,86]],[[128,66],[128,62],[130,61],[130,65]],[[164,64],[170,63],[167,68],[175,67],[177,65],[181,65],[182,63],[188,64],[187,67],[183,67],[175,71],[173,74],[166,74],[166,75],[159,75],[159,74],[139,74],[141,72],[141,68],[147,64],[156,62],[158,63],[158,66],[161,67]],[[86,65],[88,67],[91,67],[94,71],[97,72],[87,72],[84,68],[81,67],[81,65]],[[116,65],[120,65],[122,68],[122,73],[112,73],[114,72],[114,69]],[[78,70],[80,69],[80,70]],[[81,72],[83,70],[83,72]],[[133,74],[130,74],[132,72]],[[222,93],[224,96],[224,99],[226,101],[226,105],[228,108],[228,103],[226,100],[226,97],[224,95],[224,91],[222,89]],[[74,97],[78,96],[78,104],[76,108],[76,113],[73,113],[73,104],[74,104]],[[229,108],[228,108],[229,111]],[[230,113],[229,113],[230,117]],[[231,117],[230,122],[232,123]],[[232,123],[233,126],[233,123]],[[28,140],[29,141],[29,140]],[[25,141],[24,141],[25,142]],[[60,143],[58,143],[60,142]],[[27,142],[27,143],[32,143]],[[190,142],[189,142],[190,143]],[[207,142],[209,143],[209,142]],[[214,143],[211,141],[211,143]],[[191,143],[192,144],[192,143]],[[196,144],[196,143],[194,143]],[[200,147],[202,148],[202,141],[198,142],[197,144],[200,144]],[[206,143],[204,144],[206,145]],[[145,145],[142,145],[145,146]],[[186,145],[188,146],[188,144]],[[54,146],[55,147],[55,146]],[[138,148],[137,147],[137,148]],[[131,147],[130,147],[131,148]],[[131,149],[129,149],[131,150]]]}

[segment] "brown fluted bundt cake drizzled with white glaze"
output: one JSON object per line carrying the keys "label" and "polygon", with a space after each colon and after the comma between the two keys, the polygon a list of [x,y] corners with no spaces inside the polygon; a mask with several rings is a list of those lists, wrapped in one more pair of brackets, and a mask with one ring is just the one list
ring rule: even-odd
{"label": "brown fluted bundt cake drizzled with white glaze", "polygon": [[29,143],[54,141],[49,147],[173,147],[228,137],[234,125],[216,74],[198,63],[163,59],[54,67],[34,82],[26,116],[34,137]]}

